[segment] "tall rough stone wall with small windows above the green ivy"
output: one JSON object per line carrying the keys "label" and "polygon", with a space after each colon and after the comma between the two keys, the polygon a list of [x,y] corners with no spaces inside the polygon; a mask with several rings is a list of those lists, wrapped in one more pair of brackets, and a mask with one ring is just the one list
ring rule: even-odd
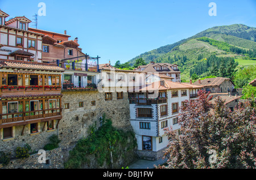
{"label": "tall rough stone wall with small windows above the green ivy", "polygon": [[[98,91],[66,91],[62,94],[63,118],[59,123],[59,139],[60,147],[66,152],[65,158],[79,139],[88,136],[90,126],[100,126],[104,113],[106,118],[112,119],[114,127],[131,130],[128,93],[123,93],[123,99],[117,100],[117,93],[113,92],[110,101],[105,101],[105,93]],[[80,108],[79,102],[83,102],[84,107]],[[64,109],[67,103],[69,109]]]}

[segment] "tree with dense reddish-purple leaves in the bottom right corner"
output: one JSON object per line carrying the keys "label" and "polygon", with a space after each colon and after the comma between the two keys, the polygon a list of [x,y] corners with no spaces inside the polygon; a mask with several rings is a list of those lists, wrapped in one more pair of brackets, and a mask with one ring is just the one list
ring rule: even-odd
{"label": "tree with dense reddish-purple leaves in the bottom right corner", "polygon": [[166,128],[168,165],[157,168],[256,168],[255,99],[239,102],[231,112],[220,97],[211,104],[209,93],[198,94],[185,101],[180,135]]}

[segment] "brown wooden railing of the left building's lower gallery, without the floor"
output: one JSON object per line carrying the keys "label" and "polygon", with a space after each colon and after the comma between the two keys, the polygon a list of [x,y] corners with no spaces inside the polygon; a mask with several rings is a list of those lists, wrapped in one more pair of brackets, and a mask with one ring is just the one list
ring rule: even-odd
{"label": "brown wooden railing of the left building's lower gallery, without the floor", "polygon": [[8,113],[0,115],[0,125],[2,123],[11,123],[18,121],[26,121],[30,119],[40,119],[61,115],[61,108],[34,110],[31,112]]}

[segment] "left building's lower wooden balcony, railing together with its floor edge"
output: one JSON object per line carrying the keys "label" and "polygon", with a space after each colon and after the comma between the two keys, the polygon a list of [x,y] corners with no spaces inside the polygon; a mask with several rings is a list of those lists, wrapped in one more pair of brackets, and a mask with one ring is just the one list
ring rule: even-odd
{"label": "left building's lower wooden balcony, railing together with its floor edge", "polygon": [[61,119],[61,108],[0,115],[0,128]]}

